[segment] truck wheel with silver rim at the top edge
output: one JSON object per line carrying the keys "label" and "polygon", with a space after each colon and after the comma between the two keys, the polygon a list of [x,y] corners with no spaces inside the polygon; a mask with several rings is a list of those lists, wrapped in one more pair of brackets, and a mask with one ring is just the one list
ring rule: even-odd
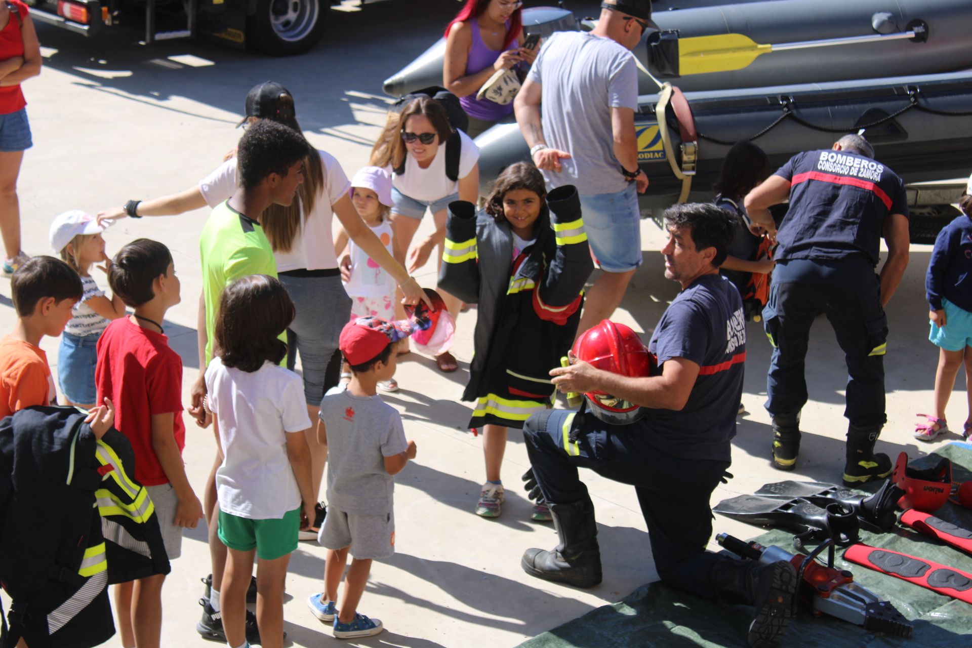
{"label": "truck wheel with silver rim at the top edge", "polygon": [[321,39],[328,8],[328,0],[257,0],[247,39],[273,56],[302,54]]}

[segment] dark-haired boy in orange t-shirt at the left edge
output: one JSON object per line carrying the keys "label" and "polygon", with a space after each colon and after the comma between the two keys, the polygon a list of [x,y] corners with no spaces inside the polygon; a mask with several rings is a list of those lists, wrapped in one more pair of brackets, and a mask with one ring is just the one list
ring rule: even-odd
{"label": "dark-haired boy in orange t-shirt at the left edge", "polygon": [[53,256],[35,256],[20,265],[10,285],[17,325],[0,340],[0,419],[25,407],[55,402],[41,339],[63,332],[84,291],[78,273]]}

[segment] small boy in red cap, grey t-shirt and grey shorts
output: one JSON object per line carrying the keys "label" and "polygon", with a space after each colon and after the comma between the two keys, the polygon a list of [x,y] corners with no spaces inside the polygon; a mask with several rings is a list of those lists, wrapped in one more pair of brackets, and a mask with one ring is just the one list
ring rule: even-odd
{"label": "small boy in red cap, grey t-shirt and grey shorts", "polygon": [[[328,548],[328,555],[324,592],[311,595],[307,604],[314,616],[333,624],[339,639],[383,630],[380,621],[359,614],[357,608],[371,561],[395,553],[392,475],[415,459],[415,442],[405,441],[398,410],[382,401],[376,391],[379,381],[395,375],[395,349],[406,335],[398,325],[376,317],[345,324],[339,347],[351,365],[351,384],[321,401],[318,442],[329,451],[330,507],[318,542]],[[354,560],[338,611],[337,587],[349,551]]]}

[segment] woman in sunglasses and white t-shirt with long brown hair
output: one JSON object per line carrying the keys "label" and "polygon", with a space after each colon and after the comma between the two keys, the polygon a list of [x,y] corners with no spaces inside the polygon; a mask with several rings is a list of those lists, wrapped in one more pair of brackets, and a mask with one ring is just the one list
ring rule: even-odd
{"label": "woman in sunglasses and white t-shirt with long brown hair", "polygon": [[[449,141],[451,138],[452,141]],[[449,147],[459,146],[456,180],[449,178],[446,159]],[[479,195],[479,148],[461,130],[453,130],[445,109],[431,97],[407,103],[396,117],[389,117],[384,132],[371,150],[372,166],[390,167],[392,173],[392,229],[395,232],[395,258],[403,263],[412,237],[426,210],[433,214],[437,233],[427,238],[409,257],[414,271],[428,260],[434,245],[441,247],[445,233],[446,207],[454,200],[475,202]],[[442,292],[449,311],[459,314],[459,300]],[[459,368],[456,358],[446,352],[436,356],[443,372]]]}

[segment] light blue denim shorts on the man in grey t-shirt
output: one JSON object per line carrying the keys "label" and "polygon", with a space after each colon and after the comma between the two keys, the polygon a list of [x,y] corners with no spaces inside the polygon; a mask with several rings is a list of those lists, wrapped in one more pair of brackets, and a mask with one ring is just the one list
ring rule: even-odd
{"label": "light blue denim shorts on the man in grey t-shirt", "polygon": [[581,195],[580,215],[598,267],[627,272],[642,264],[642,217],[635,183],[617,193]]}

